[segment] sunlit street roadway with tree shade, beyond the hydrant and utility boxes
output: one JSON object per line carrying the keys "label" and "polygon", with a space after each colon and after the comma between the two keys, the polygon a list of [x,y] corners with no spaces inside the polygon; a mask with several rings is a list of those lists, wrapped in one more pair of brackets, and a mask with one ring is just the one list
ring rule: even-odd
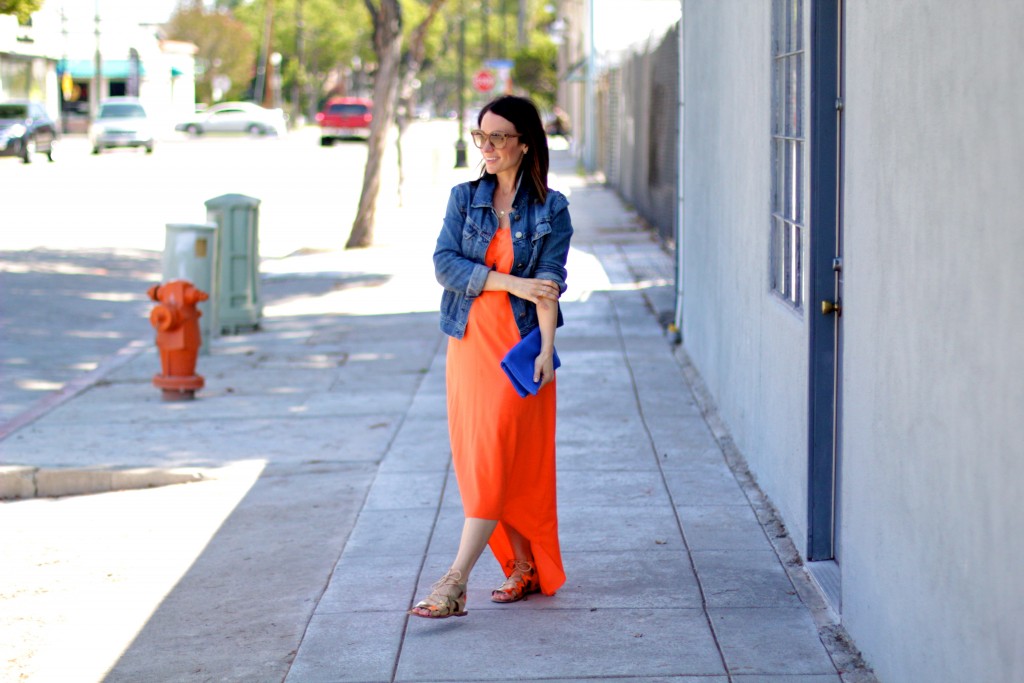
{"label": "sunlit street roadway with tree shade, beyond the hydrant and utility boxes", "polygon": [[[435,202],[446,199],[442,185],[453,177],[457,134],[450,120],[408,128],[403,198],[389,145],[379,215],[400,210],[399,199],[422,203],[417,196],[424,193],[440,193],[426,198]],[[365,142],[325,147],[315,128],[304,128],[282,137],[168,135],[153,155],[127,148],[93,156],[84,136],[66,136],[58,162],[0,164],[0,186],[16,198],[5,204],[0,234],[0,423],[130,342],[152,341],[146,289],[161,278],[168,223],[205,222],[204,203],[220,195],[255,197],[259,251],[264,269],[273,272],[286,257],[343,248],[366,158]],[[462,169],[463,177],[472,173]],[[440,219],[440,213],[424,215],[421,225],[406,227],[422,227],[432,241]],[[378,244],[409,239],[406,232],[389,237],[388,221],[381,223]],[[350,258],[373,258],[359,253]],[[283,278],[268,279],[267,305],[290,287]]]}

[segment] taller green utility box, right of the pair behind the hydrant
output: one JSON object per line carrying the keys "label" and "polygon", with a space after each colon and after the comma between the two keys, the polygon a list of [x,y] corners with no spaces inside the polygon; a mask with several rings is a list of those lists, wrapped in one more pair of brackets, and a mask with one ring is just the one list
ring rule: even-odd
{"label": "taller green utility box, right of the pair behind the hydrant", "polygon": [[217,225],[217,331],[238,334],[259,328],[259,203],[245,195],[222,195],[206,203],[206,219]]}

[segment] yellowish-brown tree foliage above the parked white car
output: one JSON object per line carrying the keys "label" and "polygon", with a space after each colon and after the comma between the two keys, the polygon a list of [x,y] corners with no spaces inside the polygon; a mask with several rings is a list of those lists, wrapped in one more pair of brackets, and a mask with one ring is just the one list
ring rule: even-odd
{"label": "yellowish-brown tree foliage above the parked white car", "polygon": [[195,43],[196,97],[210,102],[213,97],[213,77],[226,76],[231,87],[225,99],[237,99],[249,87],[256,61],[253,34],[227,11],[208,11],[202,2],[182,5],[171,16],[168,37]]}

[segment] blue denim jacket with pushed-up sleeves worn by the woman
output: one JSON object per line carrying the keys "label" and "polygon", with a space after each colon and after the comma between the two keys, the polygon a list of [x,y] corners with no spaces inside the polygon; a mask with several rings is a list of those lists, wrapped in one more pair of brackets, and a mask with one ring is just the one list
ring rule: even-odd
{"label": "blue denim jacket with pushed-up sleeves worn by the woman", "polygon": [[[541,204],[532,197],[527,183],[521,183],[510,213],[512,228],[512,274],[519,278],[551,280],[565,291],[565,259],[572,237],[568,200],[561,193],[548,190]],[[452,188],[444,224],[434,249],[434,274],[444,288],[441,295],[441,331],[457,339],[466,333],[469,307],[483,291],[490,268],[484,255],[490,239],[498,231],[498,213],[494,207],[497,180],[493,175]],[[509,294],[512,314],[525,336],[538,326],[537,306]],[[558,311],[558,326],[562,311]]]}

